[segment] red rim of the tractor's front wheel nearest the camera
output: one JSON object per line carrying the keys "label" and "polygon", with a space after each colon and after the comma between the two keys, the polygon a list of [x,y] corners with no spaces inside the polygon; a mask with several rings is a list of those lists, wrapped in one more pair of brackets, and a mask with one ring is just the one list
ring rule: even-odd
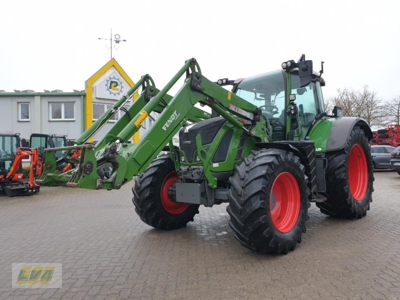
{"label": "red rim of the tractor's front wheel nearest the camera", "polygon": [[298,218],[300,191],[296,179],[289,172],[280,173],[272,183],[269,211],[272,223],[280,232],[290,231]]}

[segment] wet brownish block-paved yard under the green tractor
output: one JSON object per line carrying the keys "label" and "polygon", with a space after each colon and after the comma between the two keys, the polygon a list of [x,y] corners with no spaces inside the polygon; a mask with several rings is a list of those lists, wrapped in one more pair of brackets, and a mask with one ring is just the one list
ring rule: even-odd
{"label": "wet brownish block-paved yard under the green tractor", "polygon": [[[0,198],[1,299],[399,299],[400,176],[375,172],[362,219],[314,204],[302,243],[287,255],[242,247],[226,205],[187,227],[159,231],[116,191],[42,187]],[[11,288],[12,262],[62,263],[62,288]]]}

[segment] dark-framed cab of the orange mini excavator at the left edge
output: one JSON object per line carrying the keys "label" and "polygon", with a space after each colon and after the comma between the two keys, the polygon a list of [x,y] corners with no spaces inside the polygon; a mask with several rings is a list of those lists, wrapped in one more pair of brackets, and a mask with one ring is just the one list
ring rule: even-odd
{"label": "dark-framed cab of the orange mini excavator at the left edge", "polygon": [[[20,146],[19,133],[0,132],[0,179],[7,175],[14,160],[16,149]],[[22,179],[21,166],[19,166],[13,179]]]}

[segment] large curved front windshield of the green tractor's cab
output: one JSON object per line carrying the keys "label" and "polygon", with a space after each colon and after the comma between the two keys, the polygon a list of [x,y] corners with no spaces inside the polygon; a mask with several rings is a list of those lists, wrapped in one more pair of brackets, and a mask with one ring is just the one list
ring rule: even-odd
{"label": "large curved front windshield of the green tractor's cab", "polygon": [[282,70],[245,78],[236,89],[239,97],[261,109],[272,140],[284,139],[284,90],[285,76]]}

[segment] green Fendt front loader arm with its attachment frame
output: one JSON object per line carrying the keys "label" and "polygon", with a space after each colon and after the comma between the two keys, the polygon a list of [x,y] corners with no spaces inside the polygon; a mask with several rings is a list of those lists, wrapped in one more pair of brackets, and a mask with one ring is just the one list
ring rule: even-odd
{"label": "green Fendt front loader arm with its attachment frame", "polygon": [[[168,90],[185,73],[186,79],[179,91],[173,97],[169,96]],[[133,94],[140,86],[143,86],[143,91],[129,107],[128,113],[125,113],[95,146],[79,145],[88,140],[98,130],[98,126],[105,123],[117,107],[128,99],[129,94]],[[246,132],[251,131],[250,134],[258,141],[268,140],[265,120],[259,117],[257,106],[205,78],[201,75],[196,60],[191,58],[186,60],[161,90],[154,87],[151,77],[142,76],[126,96],[117,101],[104,113],[104,117],[101,116],[77,139],[78,145],[45,149],[43,173],[38,181],[48,185],[118,189],[134,175],[143,172],[182,125],[188,121],[197,121],[202,116],[209,117],[208,113],[194,106],[196,103],[214,109],[235,127]],[[137,143],[126,143],[151,111],[160,113],[152,127]],[[134,117],[131,117],[132,115]],[[66,172],[56,172],[53,155],[46,155],[50,151],[71,152],[77,149],[81,150],[79,163],[74,169]],[[171,157],[178,167],[179,159],[176,153],[171,154]],[[211,187],[214,185],[210,184]]]}

